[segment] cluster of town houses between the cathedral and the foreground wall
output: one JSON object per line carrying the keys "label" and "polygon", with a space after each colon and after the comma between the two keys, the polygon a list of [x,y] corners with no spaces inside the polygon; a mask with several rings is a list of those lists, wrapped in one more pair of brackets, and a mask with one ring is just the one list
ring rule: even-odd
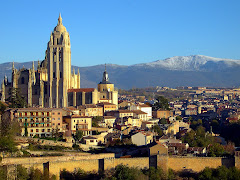
{"label": "cluster of town houses between the cathedral and the foreground wall", "polygon": [[[158,92],[170,88],[155,89]],[[144,96],[119,94],[118,105],[101,102],[66,108],[8,108],[4,114],[8,114],[11,121],[19,122],[22,136],[33,139],[57,136],[62,142],[73,144],[74,134],[81,131],[78,144],[84,151],[113,152],[116,157],[207,156],[211,145],[199,147],[184,142],[187,133],[192,128],[196,130],[194,126],[198,125],[216,142],[227,145],[218,134],[218,127],[239,121],[240,89],[179,89],[191,89],[190,97],[170,101],[167,108],[162,108],[156,99],[149,101]],[[7,102],[4,104],[8,106]]]}

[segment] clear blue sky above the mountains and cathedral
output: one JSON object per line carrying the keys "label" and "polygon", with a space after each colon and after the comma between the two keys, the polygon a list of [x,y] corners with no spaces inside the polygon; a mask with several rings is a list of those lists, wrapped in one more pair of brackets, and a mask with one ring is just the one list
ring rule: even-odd
{"label": "clear blue sky above the mountains and cathedral", "polygon": [[60,12],[73,65],[240,59],[239,0],[16,0],[1,2],[0,63],[43,60]]}

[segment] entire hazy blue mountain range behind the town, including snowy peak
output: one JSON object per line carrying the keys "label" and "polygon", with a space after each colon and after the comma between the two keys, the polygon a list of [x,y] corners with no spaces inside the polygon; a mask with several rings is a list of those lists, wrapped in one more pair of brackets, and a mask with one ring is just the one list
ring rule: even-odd
{"label": "entire hazy blue mountain range behind the town, including snowy peak", "polygon": [[[32,62],[14,63],[17,69],[32,66]],[[37,62],[35,62],[37,66]],[[73,66],[77,72],[77,66]],[[105,65],[79,67],[81,87],[97,87]],[[0,78],[11,79],[12,63],[0,64]],[[210,86],[238,87],[240,60],[221,59],[203,55],[175,56],[150,63],[122,66],[107,64],[110,82],[129,89],[149,86]]]}

